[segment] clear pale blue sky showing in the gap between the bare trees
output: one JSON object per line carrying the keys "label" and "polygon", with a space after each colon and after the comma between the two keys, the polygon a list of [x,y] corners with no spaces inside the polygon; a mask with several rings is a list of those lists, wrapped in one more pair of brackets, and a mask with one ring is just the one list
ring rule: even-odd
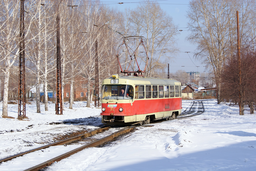
{"label": "clear pale blue sky showing in the gap between the bare trees", "polygon": [[[104,4],[109,4],[111,7],[116,7],[117,9],[124,10],[126,7],[136,8],[139,0],[124,0],[120,1],[123,4],[115,4],[118,2],[112,1],[102,1]],[[204,72],[205,64],[201,64],[200,61],[193,58],[196,46],[190,44],[186,41],[186,37],[189,35],[189,31],[186,28],[188,19],[186,18],[186,11],[188,9],[189,0],[162,0],[156,1],[161,5],[161,8],[165,10],[172,18],[176,25],[178,25],[178,30],[183,30],[178,35],[177,47],[181,52],[177,54],[174,61],[169,61],[169,71],[170,73],[175,73],[177,70],[185,70],[186,72]],[[190,53],[186,53],[190,52]],[[190,59],[191,58],[191,59]],[[196,67],[199,66],[199,67]],[[167,72],[167,64],[166,71]],[[166,73],[167,74],[167,73]]]}

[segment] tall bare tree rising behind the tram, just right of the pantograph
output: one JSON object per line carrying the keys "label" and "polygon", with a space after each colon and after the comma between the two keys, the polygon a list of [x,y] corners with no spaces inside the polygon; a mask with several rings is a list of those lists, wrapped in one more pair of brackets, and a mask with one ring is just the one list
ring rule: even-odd
{"label": "tall bare tree rising behind the tram, just right of the pantograph", "polygon": [[145,46],[150,58],[146,76],[153,76],[156,69],[165,66],[164,60],[169,60],[177,50],[177,25],[155,2],[142,1],[132,13],[133,28],[141,34],[136,36],[146,38]]}

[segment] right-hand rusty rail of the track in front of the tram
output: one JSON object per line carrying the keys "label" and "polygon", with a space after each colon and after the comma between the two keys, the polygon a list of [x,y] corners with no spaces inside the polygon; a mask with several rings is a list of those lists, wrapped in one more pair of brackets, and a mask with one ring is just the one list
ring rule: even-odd
{"label": "right-hand rusty rail of the track in front of the tram", "polygon": [[83,146],[81,146],[81,147],[78,147],[77,149],[74,149],[74,150],[71,150],[71,151],[69,151],[69,152],[67,152],[67,153],[65,153],[65,154],[59,155],[59,156],[57,156],[57,157],[55,157],[55,158],[52,158],[52,159],[50,159],[50,160],[48,160],[48,161],[46,161],[46,162],[43,162],[43,163],[41,163],[41,164],[38,164],[38,165],[34,166],[34,167],[30,167],[30,168],[28,168],[28,169],[26,169],[26,170],[24,170],[24,171],[42,169],[42,168],[44,168],[44,167],[47,167],[47,166],[51,165],[51,164],[54,163],[54,162],[58,162],[58,161],[60,161],[61,159],[67,158],[67,157],[71,156],[72,154],[75,154],[75,153],[77,153],[77,152],[79,152],[79,151],[82,151],[83,149],[86,149],[86,148],[88,148],[88,147],[95,147],[95,146],[98,146],[98,145],[100,145],[100,144],[102,144],[102,143],[105,143],[105,142],[107,142],[107,141],[109,141],[109,140],[111,140],[111,139],[113,139],[113,138],[115,138],[115,137],[117,137],[117,136],[119,136],[119,135],[122,135],[122,134],[124,134],[124,133],[130,132],[131,130],[133,130],[133,129],[136,128],[136,127],[138,127],[138,126],[129,126],[128,128],[127,128],[127,127],[126,127],[126,128],[123,128],[123,129],[121,129],[121,130],[119,130],[119,131],[114,132],[114,133],[111,134],[111,135],[108,135],[108,136],[106,136],[106,137],[104,137],[104,138],[101,138],[101,139],[99,139],[99,140],[96,140],[96,141],[93,141],[93,142],[88,143],[88,144],[86,144],[86,145],[83,145]]}

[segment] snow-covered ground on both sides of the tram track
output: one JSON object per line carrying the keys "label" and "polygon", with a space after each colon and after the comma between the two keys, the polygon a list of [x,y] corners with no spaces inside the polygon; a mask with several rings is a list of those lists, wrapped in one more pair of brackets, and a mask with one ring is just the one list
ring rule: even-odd
{"label": "snow-covered ground on both sides of the tram track", "polygon": [[[182,102],[183,111],[191,105],[191,100]],[[153,127],[139,127],[114,145],[85,149],[46,170],[256,170],[256,115],[245,111],[239,116],[237,106],[217,105],[217,100],[203,104],[201,115],[150,123]],[[41,104],[42,112],[36,113],[32,102],[26,105],[26,120],[17,120],[17,105],[8,105],[8,116],[15,119],[0,117],[0,158],[101,126],[101,109],[87,108],[86,102],[75,102],[73,109],[68,105],[63,115],[55,115],[54,104],[49,104],[49,111]],[[29,167],[26,155],[18,161],[22,167],[8,161],[0,164],[0,170]]]}

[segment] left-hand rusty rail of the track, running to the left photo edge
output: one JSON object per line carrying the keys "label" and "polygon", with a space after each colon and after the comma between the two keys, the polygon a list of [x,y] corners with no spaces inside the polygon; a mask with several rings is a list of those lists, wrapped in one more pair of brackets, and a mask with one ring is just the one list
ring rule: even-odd
{"label": "left-hand rusty rail of the track, running to the left photo edge", "polygon": [[77,136],[74,136],[74,137],[71,137],[71,138],[68,138],[68,139],[65,139],[65,140],[61,140],[61,141],[58,141],[58,142],[55,142],[55,143],[47,144],[47,145],[44,145],[44,146],[41,146],[41,147],[38,147],[38,148],[35,148],[35,149],[32,149],[32,150],[22,152],[22,153],[18,153],[18,154],[15,154],[15,155],[12,155],[12,156],[1,159],[0,163],[8,161],[8,160],[16,158],[16,157],[19,157],[19,156],[22,156],[22,155],[27,154],[27,153],[31,153],[31,152],[34,152],[34,151],[37,151],[37,150],[45,149],[45,148],[50,147],[50,146],[63,145],[63,144],[66,144],[66,143],[69,143],[69,142],[72,142],[72,141],[79,140],[81,138],[86,138],[88,136],[97,134],[99,132],[103,132],[103,131],[109,129],[110,127],[111,126],[108,126],[108,127],[103,126],[103,127],[100,127],[98,129],[95,129],[95,130],[92,130],[92,131],[89,131],[89,132],[86,132],[86,133],[81,134],[81,135],[77,135]]}

